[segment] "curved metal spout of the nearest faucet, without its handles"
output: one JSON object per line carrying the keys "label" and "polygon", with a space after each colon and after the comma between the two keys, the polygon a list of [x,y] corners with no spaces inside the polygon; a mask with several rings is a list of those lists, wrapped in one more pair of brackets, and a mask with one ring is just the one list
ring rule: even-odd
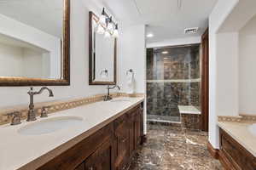
{"label": "curved metal spout of the nearest faucet, without its handles", "polygon": [[32,121],[37,120],[36,113],[35,113],[35,110],[34,110],[34,107],[35,107],[35,105],[34,105],[34,95],[42,94],[44,90],[48,90],[49,97],[54,96],[54,94],[52,93],[52,90],[49,89],[49,88],[46,88],[46,87],[41,88],[38,92],[34,92],[33,88],[30,88],[30,90],[27,92],[27,94],[29,94],[29,97],[30,97],[29,111],[28,111],[27,119],[26,119],[27,122],[32,122]]}

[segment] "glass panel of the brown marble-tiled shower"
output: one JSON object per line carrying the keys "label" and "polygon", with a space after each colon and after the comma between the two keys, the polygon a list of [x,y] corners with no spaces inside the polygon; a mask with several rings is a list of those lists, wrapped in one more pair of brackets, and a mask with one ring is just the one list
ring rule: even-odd
{"label": "glass panel of the brown marble-tiled shower", "polygon": [[147,49],[148,121],[180,122],[178,105],[200,107],[200,45]]}

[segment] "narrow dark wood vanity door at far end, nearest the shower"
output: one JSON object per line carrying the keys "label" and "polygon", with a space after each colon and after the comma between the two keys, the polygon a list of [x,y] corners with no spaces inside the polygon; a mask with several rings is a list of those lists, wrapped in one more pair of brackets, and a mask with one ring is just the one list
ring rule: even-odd
{"label": "narrow dark wood vanity door at far end, nearest the shower", "polygon": [[141,108],[137,109],[137,114],[135,115],[134,139],[135,149],[137,149],[143,139],[143,112]]}

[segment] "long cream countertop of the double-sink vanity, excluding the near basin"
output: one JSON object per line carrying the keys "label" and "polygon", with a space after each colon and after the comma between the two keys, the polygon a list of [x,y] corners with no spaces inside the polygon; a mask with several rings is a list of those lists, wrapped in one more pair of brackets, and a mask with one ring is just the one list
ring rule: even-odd
{"label": "long cream countertop of the double-sink vanity, excluding the near basin", "polygon": [[[84,120],[83,126],[77,125],[61,129],[54,133],[42,135],[22,135],[17,133],[20,127],[24,127],[32,122],[23,121],[20,125],[0,126],[0,170],[18,169],[40,156],[54,150],[61,144],[78,137],[82,133],[89,131],[92,127],[111,119],[113,116],[137,105],[143,101],[139,98],[115,98],[129,99],[130,101],[119,102],[96,102],[90,105],[82,105],[66,111],[59,111],[50,114],[48,118],[58,116],[79,116]],[[38,118],[38,121],[47,118]]]}

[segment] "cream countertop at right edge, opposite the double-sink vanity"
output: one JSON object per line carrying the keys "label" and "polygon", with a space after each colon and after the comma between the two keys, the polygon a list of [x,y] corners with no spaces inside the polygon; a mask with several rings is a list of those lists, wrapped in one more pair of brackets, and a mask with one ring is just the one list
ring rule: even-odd
{"label": "cream countertop at right edge, opposite the double-sink vanity", "polygon": [[251,124],[253,123],[218,122],[218,127],[221,127],[226,133],[230,134],[233,139],[256,157],[256,136],[248,130],[248,126]]}

